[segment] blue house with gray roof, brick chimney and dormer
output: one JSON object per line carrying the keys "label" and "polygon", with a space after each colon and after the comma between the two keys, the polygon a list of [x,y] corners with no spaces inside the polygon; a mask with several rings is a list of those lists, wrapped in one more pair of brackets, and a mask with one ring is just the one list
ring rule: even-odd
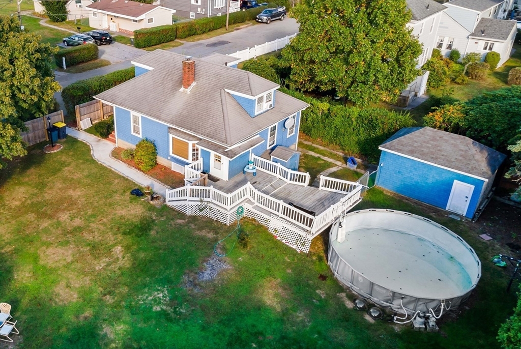
{"label": "blue house with gray roof, brick chimney and dormer", "polygon": [[158,49],[132,61],[134,79],[95,96],[114,106],[117,146],[147,139],[159,164],[181,173],[202,164],[202,172],[226,181],[242,174],[252,155],[297,170],[307,104],[223,59]]}

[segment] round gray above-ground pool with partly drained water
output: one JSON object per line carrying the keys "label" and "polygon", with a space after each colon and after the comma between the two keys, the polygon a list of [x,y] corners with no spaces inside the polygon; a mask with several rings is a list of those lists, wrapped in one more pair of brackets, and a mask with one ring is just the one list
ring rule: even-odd
{"label": "round gray above-ground pool with partly drained water", "polygon": [[[460,236],[410,213],[368,209],[333,223],[328,264],[354,292],[399,313],[456,308],[481,276],[481,263]],[[345,240],[344,240],[345,239]]]}

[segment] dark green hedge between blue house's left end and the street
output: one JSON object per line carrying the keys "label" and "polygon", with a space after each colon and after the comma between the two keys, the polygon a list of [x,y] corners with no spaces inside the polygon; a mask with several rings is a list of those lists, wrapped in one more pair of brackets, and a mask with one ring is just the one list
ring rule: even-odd
{"label": "dark green hedge between blue house's left end and the street", "polygon": [[[96,45],[92,45],[96,46]],[[92,97],[134,77],[134,67],[116,70],[106,75],[80,80],[61,92],[67,115],[75,115],[75,106],[92,101]]]}

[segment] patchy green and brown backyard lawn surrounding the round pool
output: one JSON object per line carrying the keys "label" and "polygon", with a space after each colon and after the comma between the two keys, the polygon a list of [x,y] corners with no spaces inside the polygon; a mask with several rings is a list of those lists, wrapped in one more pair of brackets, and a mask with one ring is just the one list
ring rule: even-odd
{"label": "patchy green and brown backyard lawn surrounding the round pool", "polygon": [[[346,308],[324,251],[297,253],[249,220],[250,246],[236,246],[216,280],[197,281],[234,227],[157,209],[129,195],[135,183],[93,160],[88,145],[60,143],[55,154],[33,146],[0,172],[0,295],[20,348],[498,347],[514,295],[488,262],[494,245],[465,223],[434,217],[483,261],[472,308],[443,333],[396,330]],[[432,211],[376,188],[357,209],[368,207]]]}

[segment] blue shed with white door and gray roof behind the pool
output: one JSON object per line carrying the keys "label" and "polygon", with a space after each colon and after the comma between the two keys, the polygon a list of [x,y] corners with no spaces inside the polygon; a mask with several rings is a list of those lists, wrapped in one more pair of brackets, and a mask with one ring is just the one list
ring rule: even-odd
{"label": "blue shed with white door and gray roof behind the pool", "polygon": [[505,159],[465,136],[430,127],[401,129],[379,149],[376,185],[468,218]]}

